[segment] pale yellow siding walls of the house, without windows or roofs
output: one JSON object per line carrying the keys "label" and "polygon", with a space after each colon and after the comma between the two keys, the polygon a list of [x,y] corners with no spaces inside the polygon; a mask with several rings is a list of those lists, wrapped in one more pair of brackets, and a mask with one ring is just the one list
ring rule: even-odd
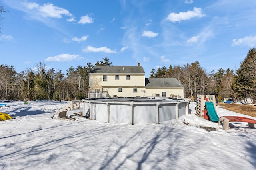
{"label": "pale yellow siding walls of the house, without windows or roofs", "polygon": [[[107,81],[103,81],[103,75],[107,75]],[[116,75],[119,75],[119,80],[116,80]],[[130,75],[130,80],[126,80],[126,75]],[[90,74],[90,86],[101,85],[103,92],[108,94],[108,97],[136,97],[136,96],[153,96],[159,94],[162,97],[162,92],[166,92],[166,97],[170,95],[180,96],[184,98],[183,87],[154,87],[145,88],[145,74]],[[137,88],[137,92],[133,92],[133,88]],[[118,88],[122,88],[122,92],[118,92]]]}

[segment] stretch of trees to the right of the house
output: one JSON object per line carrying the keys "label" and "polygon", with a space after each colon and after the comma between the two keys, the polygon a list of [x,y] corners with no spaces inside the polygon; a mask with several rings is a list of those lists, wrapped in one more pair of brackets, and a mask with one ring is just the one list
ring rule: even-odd
{"label": "stretch of trees to the right of the house", "polygon": [[219,68],[210,73],[200,66],[199,61],[183,66],[163,66],[150,72],[150,77],[174,77],[184,85],[184,96],[192,99],[197,94],[214,94],[218,101],[233,98],[238,102],[256,104],[256,49],[251,47],[240,68]]}

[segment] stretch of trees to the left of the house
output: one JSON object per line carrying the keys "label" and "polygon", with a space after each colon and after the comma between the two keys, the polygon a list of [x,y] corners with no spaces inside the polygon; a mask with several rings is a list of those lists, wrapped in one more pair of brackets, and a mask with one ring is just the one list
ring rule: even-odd
{"label": "stretch of trees to the left of the house", "polygon": [[[110,65],[108,58],[95,65]],[[62,70],[47,69],[44,62],[18,73],[14,66],[0,65],[1,100],[81,100],[87,98],[89,72],[93,65],[70,66]]]}

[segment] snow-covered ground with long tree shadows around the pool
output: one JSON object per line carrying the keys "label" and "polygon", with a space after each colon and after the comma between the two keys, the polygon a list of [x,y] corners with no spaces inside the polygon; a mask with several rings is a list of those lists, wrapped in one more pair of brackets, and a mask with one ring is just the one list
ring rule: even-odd
{"label": "snow-covered ground with long tree shadows around the pool", "polygon": [[[52,119],[66,104],[7,102],[1,107],[16,119],[0,122],[0,169],[256,169],[256,128],[233,122],[224,131],[196,116],[194,104],[178,122],[138,125]],[[82,107],[68,114],[79,112]],[[250,117],[220,106],[217,113]]]}

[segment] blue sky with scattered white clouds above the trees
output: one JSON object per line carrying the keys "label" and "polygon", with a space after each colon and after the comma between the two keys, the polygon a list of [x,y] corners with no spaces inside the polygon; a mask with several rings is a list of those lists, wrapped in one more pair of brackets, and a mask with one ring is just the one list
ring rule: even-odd
{"label": "blue sky with scattered white clouds above the trees", "polygon": [[1,64],[66,70],[108,57],[152,68],[239,68],[256,45],[255,0],[2,0]]}

